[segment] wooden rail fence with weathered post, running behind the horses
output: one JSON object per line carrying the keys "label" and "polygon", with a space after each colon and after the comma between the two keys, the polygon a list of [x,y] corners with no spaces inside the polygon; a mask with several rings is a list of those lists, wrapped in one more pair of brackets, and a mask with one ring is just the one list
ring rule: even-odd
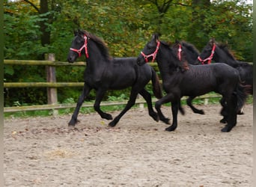
{"label": "wooden rail fence with weathered post, running behind the horses", "polygon": [[[39,110],[53,110],[53,114],[58,114],[57,109],[61,108],[75,108],[76,104],[59,104],[57,96],[57,88],[63,87],[82,87],[83,82],[57,82],[55,77],[55,68],[64,66],[78,66],[85,67],[85,62],[75,62],[73,64],[61,61],[55,61],[54,55],[49,54],[46,61],[27,61],[27,60],[4,60],[4,65],[29,65],[29,66],[46,66],[46,81],[47,82],[4,82],[4,88],[47,88],[47,105],[26,105],[26,106],[13,106],[4,107],[4,112],[16,112],[16,111],[39,111]],[[155,70],[158,70],[156,63],[149,63]],[[160,80],[161,81],[161,80]],[[199,99],[204,99],[207,104],[207,99],[220,97],[219,94],[206,94],[204,96],[198,96]],[[186,97],[183,97],[186,99]],[[155,102],[156,99],[153,99]],[[102,102],[101,105],[124,105],[127,101],[123,102]],[[136,104],[144,104],[144,99],[136,99]],[[93,103],[83,104],[82,107],[93,107]],[[57,112],[57,113],[56,113]]]}

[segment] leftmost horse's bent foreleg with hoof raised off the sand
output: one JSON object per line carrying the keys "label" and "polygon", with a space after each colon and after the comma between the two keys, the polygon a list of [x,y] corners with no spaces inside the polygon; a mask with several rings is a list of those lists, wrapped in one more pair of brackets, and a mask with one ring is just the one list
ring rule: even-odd
{"label": "leftmost horse's bent foreleg with hoof raised off the sand", "polygon": [[100,109],[100,102],[102,101],[103,99],[103,96],[105,95],[106,93],[106,90],[103,90],[103,89],[97,89],[96,91],[96,99],[95,99],[95,102],[94,102],[94,110],[98,112],[98,114],[100,114],[100,117],[102,117],[103,119],[106,119],[106,120],[112,120],[113,117],[111,114],[107,114],[105,112],[103,112],[101,109]]}

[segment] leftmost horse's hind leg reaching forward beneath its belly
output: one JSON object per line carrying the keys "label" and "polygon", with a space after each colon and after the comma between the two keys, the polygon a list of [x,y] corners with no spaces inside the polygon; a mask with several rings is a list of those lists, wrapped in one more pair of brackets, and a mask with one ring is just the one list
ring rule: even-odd
{"label": "leftmost horse's hind leg reaching forward beneath its belly", "polygon": [[123,111],[121,111],[121,113],[118,114],[118,116],[115,117],[115,119],[112,120],[112,122],[109,123],[109,126],[116,126],[116,124],[121,119],[121,117],[129,110],[129,108],[132,107],[132,105],[135,104],[135,100],[136,100],[136,97],[138,95],[138,91],[133,91],[133,89],[134,88],[132,88],[131,94],[129,95],[129,101],[127,102],[127,105],[125,106]]}

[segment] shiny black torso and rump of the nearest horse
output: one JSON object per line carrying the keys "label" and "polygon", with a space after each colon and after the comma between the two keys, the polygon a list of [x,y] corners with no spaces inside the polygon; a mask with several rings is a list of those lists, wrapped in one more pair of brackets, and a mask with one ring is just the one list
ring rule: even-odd
{"label": "shiny black torso and rump of the nearest horse", "polygon": [[227,64],[189,65],[189,70],[180,75],[181,94],[187,96],[219,93],[229,85],[233,89],[239,81],[238,71]]}

